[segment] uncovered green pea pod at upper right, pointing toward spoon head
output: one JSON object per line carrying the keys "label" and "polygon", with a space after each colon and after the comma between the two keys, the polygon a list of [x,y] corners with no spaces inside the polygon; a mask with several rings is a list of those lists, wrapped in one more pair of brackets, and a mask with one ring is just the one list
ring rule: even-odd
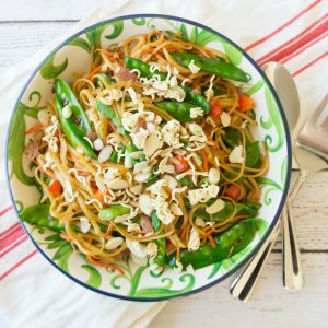
{"label": "uncovered green pea pod at upper right, pointing toward spoon head", "polygon": [[222,78],[232,79],[241,82],[248,82],[251,77],[233,63],[201,57],[194,54],[171,54],[171,56],[181,66],[188,67],[191,60],[200,68],[200,71],[215,74]]}

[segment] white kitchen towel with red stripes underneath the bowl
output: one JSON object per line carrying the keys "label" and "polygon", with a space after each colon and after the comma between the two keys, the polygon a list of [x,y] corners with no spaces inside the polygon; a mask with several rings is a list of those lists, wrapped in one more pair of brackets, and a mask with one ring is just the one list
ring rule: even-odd
{"label": "white kitchen towel with red stripes underneath the bowl", "polygon": [[[327,93],[328,1],[112,0],[70,32],[99,20],[136,13],[178,15],[203,23],[244,47],[259,65],[280,61],[295,78],[298,128]],[[0,154],[15,98],[44,48],[0,77]],[[13,327],[144,327],[164,303],[140,304],[97,295],[62,277],[38,254],[19,224],[0,167],[0,311]],[[87,311],[85,311],[87,309]]]}

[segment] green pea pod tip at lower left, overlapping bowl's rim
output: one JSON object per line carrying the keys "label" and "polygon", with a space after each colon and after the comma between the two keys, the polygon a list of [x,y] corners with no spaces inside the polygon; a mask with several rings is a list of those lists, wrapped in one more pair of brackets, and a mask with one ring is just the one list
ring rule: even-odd
{"label": "green pea pod tip at lower left, overlapping bowl's rim", "polygon": [[49,204],[37,204],[32,206],[23,210],[20,218],[30,224],[48,227],[54,231],[62,231],[63,225],[55,218],[49,214]]}

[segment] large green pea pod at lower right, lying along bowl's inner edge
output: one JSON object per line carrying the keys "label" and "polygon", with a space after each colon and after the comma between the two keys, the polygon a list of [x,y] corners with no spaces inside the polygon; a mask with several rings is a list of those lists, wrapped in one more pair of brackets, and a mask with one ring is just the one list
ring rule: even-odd
{"label": "large green pea pod at lower right, lying along bowl's inner edge", "polygon": [[[183,268],[186,269],[188,265],[191,265],[194,269],[199,269],[234,256],[251,243],[260,229],[261,221],[261,219],[248,219],[233,225],[213,238],[216,245],[215,248],[207,242],[195,251],[181,250],[180,262]],[[175,267],[176,253],[168,256],[165,262],[171,267]]]}

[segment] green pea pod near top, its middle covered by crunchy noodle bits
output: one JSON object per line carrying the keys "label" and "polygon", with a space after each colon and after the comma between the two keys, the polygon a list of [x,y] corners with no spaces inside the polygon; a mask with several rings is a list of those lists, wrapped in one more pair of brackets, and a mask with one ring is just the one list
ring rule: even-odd
{"label": "green pea pod near top, its middle covered by crunchy noodle bits", "polygon": [[[126,56],[126,67],[129,69],[139,70],[140,74],[148,79],[151,79],[151,78],[154,78],[155,75],[157,75],[157,77],[160,77],[160,79],[162,81],[164,81],[167,78],[167,75],[163,72],[159,72],[159,71],[151,72],[150,65],[148,65],[147,62],[143,62],[140,59],[136,59],[136,58],[132,58],[129,56]],[[186,96],[191,102],[194,102],[195,104],[200,106],[204,110],[206,114],[208,114],[210,112],[211,106],[210,106],[209,102],[206,99],[206,97],[192,92],[192,90],[188,86],[181,86],[181,87],[185,90]]]}

